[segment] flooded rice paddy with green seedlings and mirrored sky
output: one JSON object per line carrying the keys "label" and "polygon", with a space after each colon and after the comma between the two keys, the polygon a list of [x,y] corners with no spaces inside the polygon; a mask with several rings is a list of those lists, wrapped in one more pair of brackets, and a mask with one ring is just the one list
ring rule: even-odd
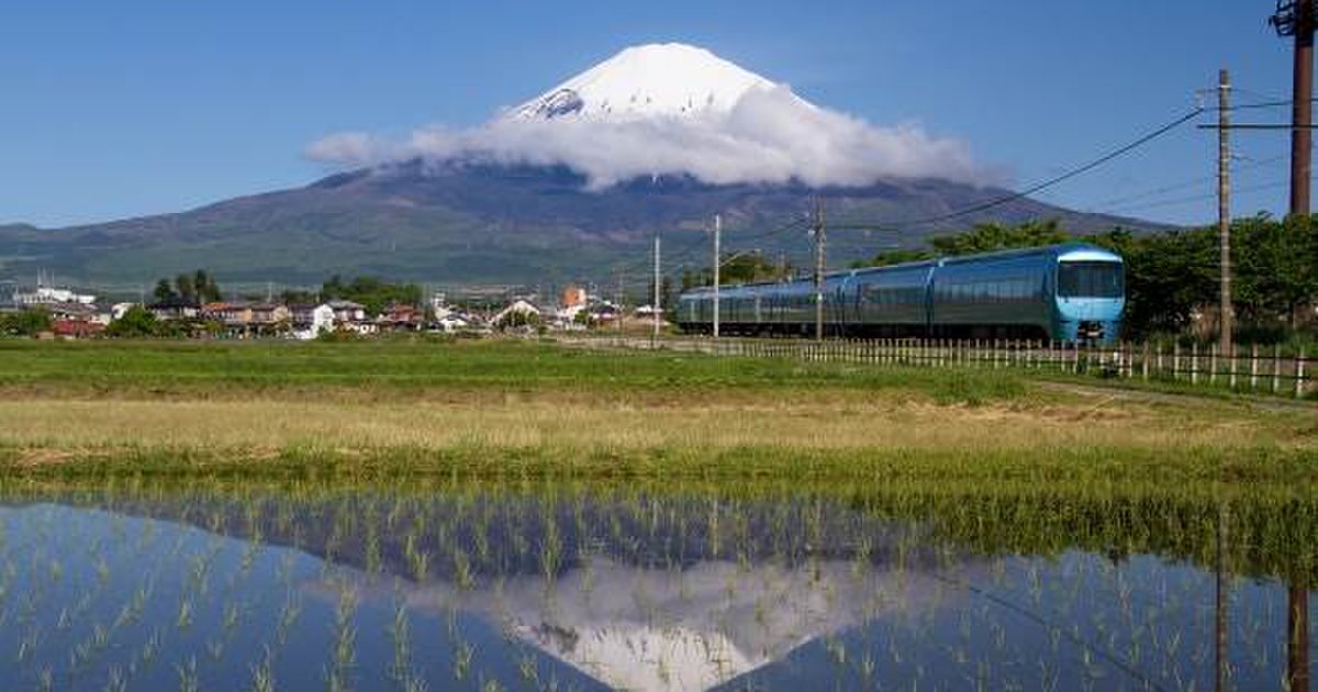
{"label": "flooded rice paddy with green seedlings and mirrored sky", "polygon": [[11,482],[0,688],[1272,689],[1315,551],[1220,486]]}

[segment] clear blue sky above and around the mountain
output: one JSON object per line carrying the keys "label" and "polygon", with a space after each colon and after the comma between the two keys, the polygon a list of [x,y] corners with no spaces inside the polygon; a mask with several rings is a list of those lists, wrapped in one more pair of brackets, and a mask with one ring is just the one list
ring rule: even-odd
{"label": "clear blue sky above and around the mountain", "polygon": [[[1184,113],[1219,67],[1238,101],[1289,98],[1273,5],[46,0],[0,22],[0,223],[100,221],[306,185],[327,173],[303,157],[326,134],[476,125],[655,41],[708,47],[874,124],[917,121],[1025,186]],[[1286,134],[1234,137],[1235,214],[1282,212]],[[1040,198],[1207,221],[1215,157],[1214,133],[1185,127]]]}

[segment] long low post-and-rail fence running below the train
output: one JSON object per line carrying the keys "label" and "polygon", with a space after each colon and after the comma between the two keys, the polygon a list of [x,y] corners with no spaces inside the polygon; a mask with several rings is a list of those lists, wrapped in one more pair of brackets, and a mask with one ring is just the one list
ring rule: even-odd
{"label": "long low post-and-rail fence running below the train", "polygon": [[1180,344],[1090,347],[1061,341],[950,340],[950,339],[712,339],[588,336],[560,341],[605,348],[664,349],[716,356],[795,359],[816,362],[853,362],[907,366],[973,366],[1029,369],[1108,378],[1182,382],[1193,386],[1304,398],[1315,389],[1318,362],[1304,349],[1282,356],[1280,349],[1242,347],[1218,351],[1217,344],[1184,348]]}

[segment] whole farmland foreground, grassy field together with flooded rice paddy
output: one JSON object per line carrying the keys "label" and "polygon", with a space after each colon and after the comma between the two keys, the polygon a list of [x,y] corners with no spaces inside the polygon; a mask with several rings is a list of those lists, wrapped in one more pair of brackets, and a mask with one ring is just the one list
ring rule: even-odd
{"label": "whole farmland foreground, grassy field together with flooded rice paddy", "polygon": [[4,689],[1313,679],[1305,403],[536,343],[0,341],[0,420]]}

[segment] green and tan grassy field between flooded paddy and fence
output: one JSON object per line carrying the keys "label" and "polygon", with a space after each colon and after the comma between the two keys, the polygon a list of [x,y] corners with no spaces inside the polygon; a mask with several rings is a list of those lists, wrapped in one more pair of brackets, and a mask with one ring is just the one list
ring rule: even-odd
{"label": "green and tan grassy field between flooded paddy and fence", "polygon": [[514,341],[0,341],[0,465],[105,476],[1318,481],[1318,409]]}

